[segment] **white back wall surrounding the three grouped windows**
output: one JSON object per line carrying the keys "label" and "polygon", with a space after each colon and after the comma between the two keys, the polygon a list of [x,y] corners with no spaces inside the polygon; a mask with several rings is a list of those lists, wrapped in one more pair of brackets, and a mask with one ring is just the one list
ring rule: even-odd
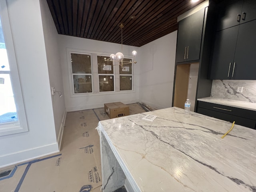
{"label": "white back wall surrounding the three grouped windows", "polygon": [[[58,36],[59,50],[60,50],[60,61],[62,65],[63,74],[63,85],[65,104],[67,111],[75,111],[82,109],[100,108],[104,106],[104,103],[109,102],[123,102],[124,104],[138,102],[138,86],[135,86],[133,92],[119,92],[119,93],[99,93],[90,94],[87,96],[72,97],[72,87],[70,87],[69,78],[71,74],[68,72],[70,61],[67,60],[67,48],[81,50],[85,52],[98,52],[100,54],[106,54],[109,56],[111,53],[121,51],[121,45],[97,40],[90,40],[85,38],[78,38],[72,36],[59,35]],[[131,56],[132,51],[137,50],[138,57],[140,56],[140,48],[133,46],[123,45],[124,56]],[[140,63],[134,64],[134,82],[138,85],[138,66]],[[97,71],[94,71],[97,75]]]}

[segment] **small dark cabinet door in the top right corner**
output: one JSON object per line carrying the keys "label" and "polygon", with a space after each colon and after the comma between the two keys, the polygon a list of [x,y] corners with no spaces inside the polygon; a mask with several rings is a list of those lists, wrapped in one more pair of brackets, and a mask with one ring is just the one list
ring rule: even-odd
{"label": "small dark cabinet door in the top right corner", "polygon": [[244,0],[240,24],[256,19],[256,0]]}

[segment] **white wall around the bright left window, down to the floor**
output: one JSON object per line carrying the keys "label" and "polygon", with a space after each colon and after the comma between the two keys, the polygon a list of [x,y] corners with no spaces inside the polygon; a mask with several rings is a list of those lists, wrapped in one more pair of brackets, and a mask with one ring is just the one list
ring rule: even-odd
{"label": "white wall around the bright left window, down to the floor", "polygon": [[39,0],[8,0],[28,132],[0,137],[0,167],[58,151]]}

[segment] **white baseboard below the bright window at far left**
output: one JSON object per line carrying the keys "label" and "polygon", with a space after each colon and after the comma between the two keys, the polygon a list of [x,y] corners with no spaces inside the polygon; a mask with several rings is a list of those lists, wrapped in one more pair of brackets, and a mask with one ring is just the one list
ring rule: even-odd
{"label": "white baseboard below the bright window at far left", "polygon": [[26,162],[35,158],[40,158],[42,156],[54,154],[57,152],[59,152],[58,143],[53,143],[38,148],[19,151],[13,154],[7,154],[5,156],[0,157],[0,168],[11,166],[14,164],[20,164],[22,162]]}

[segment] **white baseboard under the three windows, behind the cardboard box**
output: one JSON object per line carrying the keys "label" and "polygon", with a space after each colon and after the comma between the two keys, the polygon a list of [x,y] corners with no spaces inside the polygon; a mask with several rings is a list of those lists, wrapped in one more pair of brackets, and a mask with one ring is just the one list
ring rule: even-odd
{"label": "white baseboard under the three windows, behind the cardboard box", "polygon": [[[118,100],[118,101],[106,101],[104,103],[111,103],[111,102],[122,102],[124,104],[132,104],[138,102],[138,99],[134,100]],[[82,105],[82,106],[73,106],[73,107],[67,107],[67,112],[73,112],[73,111],[80,111],[80,110],[88,110],[88,109],[95,109],[95,108],[102,108],[104,107],[104,103],[98,103],[98,104],[88,104],[88,105]]]}

